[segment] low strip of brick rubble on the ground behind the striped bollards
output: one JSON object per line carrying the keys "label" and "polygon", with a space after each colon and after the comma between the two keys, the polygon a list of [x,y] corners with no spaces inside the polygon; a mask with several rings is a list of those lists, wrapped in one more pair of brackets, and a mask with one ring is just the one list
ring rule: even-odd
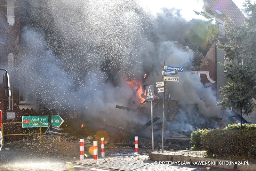
{"label": "low strip of brick rubble on the ground behind the striped bollards", "polygon": [[[97,138],[97,137],[96,137]],[[92,141],[96,140],[96,138],[92,138],[92,136],[88,136],[88,138],[84,138],[84,151],[89,156],[89,148],[92,147]],[[90,139],[90,140],[88,140]],[[100,141],[98,141],[100,143]],[[116,154],[116,153],[133,153],[134,152],[134,144],[126,144],[124,142],[105,143],[105,153],[106,155]],[[131,142],[130,142],[131,143]],[[142,143],[144,144],[144,143]],[[40,143],[40,139],[23,139],[19,141],[13,141],[8,143],[11,149],[15,151],[32,151],[36,153],[42,154],[63,154],[69,157],[78,157],[80,154],[80,141],[74,136],[70,137],[57,137],[57,138],[48,138],[48,135],[42,136],[42,143]],[[98,144],[98,149],[100,149],[100,144]],[[87,152],[86,152],[87,151]],[[158,150],[156,150],[158,151]],[[151,146],[148,144],[144,144],[143,146],[139,146],[140,154],[148,154],[152,152]],[[99,151],[100,154],[100,151]]]}

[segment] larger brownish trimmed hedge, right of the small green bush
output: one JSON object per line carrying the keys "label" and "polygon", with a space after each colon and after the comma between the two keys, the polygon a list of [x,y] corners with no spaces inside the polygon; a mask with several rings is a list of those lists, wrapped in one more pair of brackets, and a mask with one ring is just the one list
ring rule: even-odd
{"label": "larger brownish trimmed hedge, right of the small green bush", "polygon": [[208,155],[233,155],[256,159],[256,131],[215,129],[201,134],[203,149]]}

